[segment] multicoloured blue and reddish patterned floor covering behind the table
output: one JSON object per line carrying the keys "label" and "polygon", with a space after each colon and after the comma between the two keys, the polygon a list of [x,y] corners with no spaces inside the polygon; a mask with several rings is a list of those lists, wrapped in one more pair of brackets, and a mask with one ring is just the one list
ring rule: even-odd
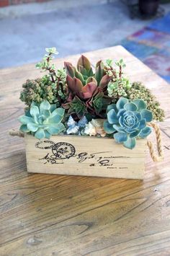
{"label": "multicoloured blue and reddish patterned floor covering behind the table", "polygon": [[121,44],[170,82],[170,12],[128,36]]}

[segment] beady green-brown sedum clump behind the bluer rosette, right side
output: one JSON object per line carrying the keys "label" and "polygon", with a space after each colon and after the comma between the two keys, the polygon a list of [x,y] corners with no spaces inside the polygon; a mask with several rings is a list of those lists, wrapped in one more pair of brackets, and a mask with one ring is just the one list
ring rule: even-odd
{"label": "beady green-brown sedum clump behind the bluer rosette, right side", "polygon": [[156,100],[151,90],[146,88],[140,81],[134,82],[132,87],[127,90],[127,97],[130,100],[143,99],[147,103],[148,110],[153,113],[153,120],[164,120],[165,114],[160,107],[160,103]]}

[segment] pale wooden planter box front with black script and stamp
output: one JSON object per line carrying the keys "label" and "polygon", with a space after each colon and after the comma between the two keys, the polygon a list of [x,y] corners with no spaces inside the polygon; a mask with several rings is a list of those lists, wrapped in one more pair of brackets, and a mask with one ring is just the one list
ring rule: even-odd
{"label": "pale wooden planter box front with black script and stamp", "polygon": [[26,135],[27,172],[143,179],[146,139],[126,149],[112,138]]}

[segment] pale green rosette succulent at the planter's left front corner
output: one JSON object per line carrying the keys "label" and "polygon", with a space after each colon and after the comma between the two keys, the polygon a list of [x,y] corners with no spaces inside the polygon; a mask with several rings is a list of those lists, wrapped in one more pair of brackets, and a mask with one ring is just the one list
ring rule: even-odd
{"label": "pale green rosette succulent at the planter's left front corner", "polygon": [[32,102],[30,110],[19,117],[22,123],[20,131],[31,132],[35,138],[50,138],[53,134],[64,131],[65,126],[61,123],[65,110],[56,105],[50,105],[44,100],[40,105]]}

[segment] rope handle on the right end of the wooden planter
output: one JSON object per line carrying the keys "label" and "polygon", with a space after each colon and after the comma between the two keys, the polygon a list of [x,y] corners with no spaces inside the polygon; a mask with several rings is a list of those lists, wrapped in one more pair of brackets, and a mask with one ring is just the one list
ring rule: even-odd
{"label": "rope handle on the right end of the wooden planter", "polygon": [[148,123],[148,126],[151,126],[156,133],[156,146],[158,150],[158,155],[156,155],[156,152],[153,147],[153,143],[151,141],[147,141],[151,158],[153,159],[153,162],[161,162],[164,159],[164,153],[162,150],[161,130],[158,127],[158,125],[156,125],[156,123]]}

